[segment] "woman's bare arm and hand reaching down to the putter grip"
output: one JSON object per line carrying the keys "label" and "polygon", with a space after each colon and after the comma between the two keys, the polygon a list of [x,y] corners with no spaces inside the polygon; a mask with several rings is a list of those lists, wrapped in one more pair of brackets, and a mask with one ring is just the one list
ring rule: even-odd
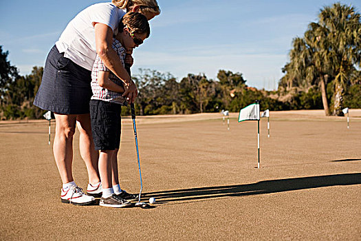
{"label": "woman's bare arm and hand reaching down to the putter grip", "polygon": [[138,90],[133,81],[131,81],[131,77],[127,73],[127,70],[123,67],[118,54],[111,48],[113,31],[108,25],[103,23],[96,23],[94,29],[96,32],[97,54],[100,56],[100,59],[105,66],[124,82],[125,92],[123,96],[127,97],[129,103],[133,103],[138,95]]}

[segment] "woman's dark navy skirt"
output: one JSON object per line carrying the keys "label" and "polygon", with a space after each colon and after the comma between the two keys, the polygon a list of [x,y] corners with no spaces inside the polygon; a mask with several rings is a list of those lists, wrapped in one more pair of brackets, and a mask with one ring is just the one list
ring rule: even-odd
{"label": "woman's dark navy skirt", "polygon": [[56,114],[89,114],[90,83],[91,71],[65,58],[54,45],[34,105]]}

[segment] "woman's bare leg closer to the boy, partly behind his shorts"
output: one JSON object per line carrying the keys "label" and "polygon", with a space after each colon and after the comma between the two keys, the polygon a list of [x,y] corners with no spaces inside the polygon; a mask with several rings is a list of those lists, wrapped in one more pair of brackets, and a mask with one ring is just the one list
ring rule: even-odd
{"label": "woman's bare leg closer to the boy, partly behind his shorts", "polygon": [[87,166],[89,183],[96,184],[100,182],[98,170],[99,153],[94,148],[93,135],[91,134],[90,115],[80,114],[76,118],[79,136],[80,156],[83,158]]}

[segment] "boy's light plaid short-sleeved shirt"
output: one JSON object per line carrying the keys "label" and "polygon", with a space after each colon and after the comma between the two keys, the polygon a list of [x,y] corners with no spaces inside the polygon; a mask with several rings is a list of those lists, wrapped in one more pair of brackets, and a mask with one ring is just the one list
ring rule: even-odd
{"label": "boy's light plaid short-sleeved shirt", "polygon": [[[125,58],[125,49],[122,47],[122,44],[116,40],[113,39],[113,43],[111,45],[113,50],[116,50],[120,60],[122,61],[122,64],[124,66],[124,58]],[[118,92],[112,92],[110,90],[105,89],[104,87],[100,87],[98,84],[98,76],[100,71],[106,71],[109,73],[109,80],[113,81],[114,83],[121,85],[124,87],[123,82],[118,78],[113,72],[111,72],[104,63],[102,63],[102,60],[97,55],[96,61],[93,65],[93,70],[91,71],[91,90],[93,91],[93,96],[91,96],[92,100],[99,100],[99,101],[107,101],[111,103],[117,103],[120,105],[127,105],[127,101],[122,96],[122,93]]]}

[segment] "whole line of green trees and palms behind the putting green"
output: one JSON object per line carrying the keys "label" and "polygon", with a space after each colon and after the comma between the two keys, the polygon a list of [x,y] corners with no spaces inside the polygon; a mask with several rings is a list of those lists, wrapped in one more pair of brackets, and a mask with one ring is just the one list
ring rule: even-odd
{"label": "whole line of green trees and palms behind the putting green", "polygon": [[[335,3],[320,10],[317,22],[292,41],[289,63],[278,90],[249,87],[243,74],[219,70],[217,79],[188,74],[180,81],[170,73],[140,69],[132,76],[139,95],[140,115],[193,114],[239,109],[261,101],[262,109],[325,109],[342,115],[343,107],[361,108],[361,23],[352,6]],[[32,105],[43,67],[21,76],[0,45],[0,118],[42,118],[45,111]],[[129,108],[122,109],[129,115]]]}

